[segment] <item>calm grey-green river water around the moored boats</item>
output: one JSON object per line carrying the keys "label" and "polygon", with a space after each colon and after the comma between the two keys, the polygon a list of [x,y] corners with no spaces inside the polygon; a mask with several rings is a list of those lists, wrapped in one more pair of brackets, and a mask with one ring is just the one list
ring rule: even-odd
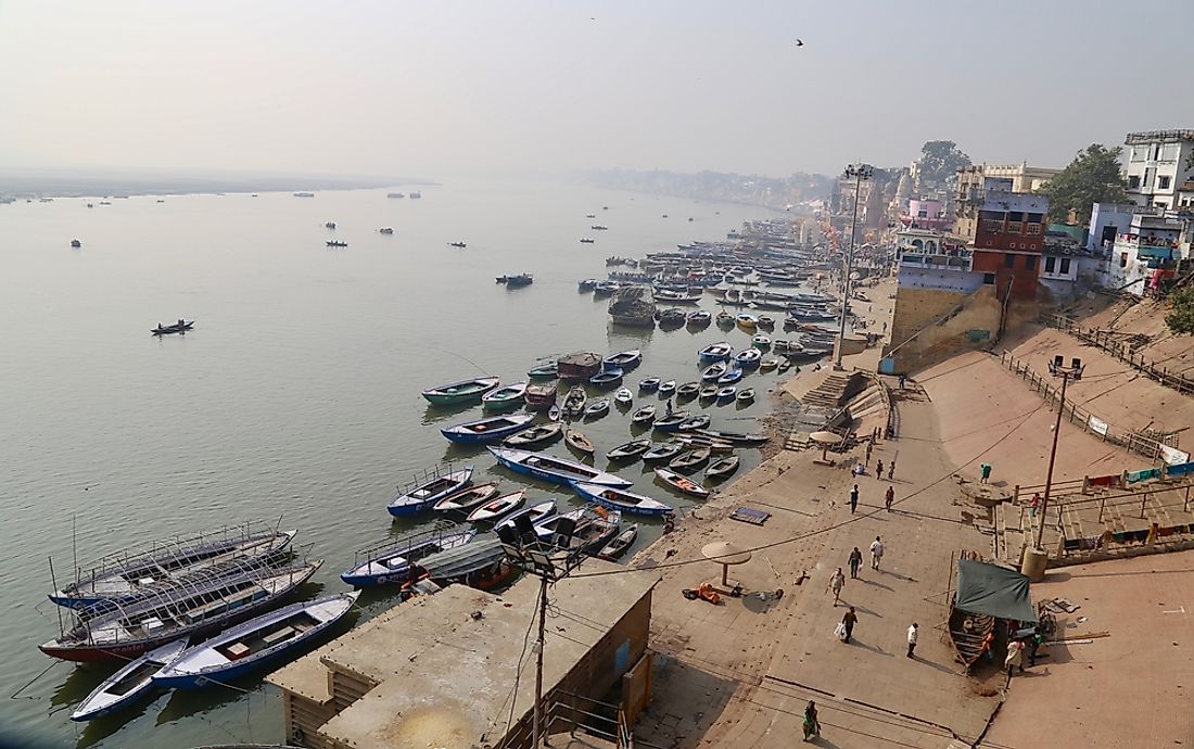
{"label": "calm grey-green river water around the moored boats", "polygon": [[[75,559],[281,517],[300,529],[296,544],[312,558],[326,559],[304,593],[341,590],[338,575],[355,550],[402,529],[386,503],[417,471],[475,462],[475,481],[500,479],[507,491],[522,484],[482,448],[439,435],[479,417],[480,406],[436,411],[419,395],[424,388],[481,370],[513,382],[542,356],[641,348],[633,389],[652,374],[697,379],[696,351],[714,340],[750,345],[744,332],[716,326],[610,330],[607,302],[579,294],[577,281],[603,277],[607,256],[721,239],[773,211],[546,183],[449,184],[425,189],[420,201],[386,194],[0,205],[0,744],[283,738],[281,699],[259,679],[238,682],[242,690],[160,694],[91,724],[70,723],[109,671],[55,664],[37,650],[59,626],[45,598],[49,557],[61,584]],[[591,231],[595,222],[609,231]],[[394,234],[377,233],[382,226]],[[326,247],[332,237],[349,246]],[[69,246],[73,238],[81,248]],[[468,247],[448,246],[456,240]],[[494,283],[522,271],[535,275],[534,286]],[[715,309],[712,299],[702,305]],[[197,320],[193,332],[149,334],[180,317]],[[744,386],[759,391],[757,403],[707,409],[713,426],[756,430],[776,380],[750,375]],[[601,468],[601,455],[630,438],[629,417],[616,409],[581,429]],[[562,443],[549,449],[567,455]],[[757,450],[740,454],[740,473],[758,462]],[[642,463],[621,473],[644,493],[691,507]],[[567,491],[530,485],[528,503],[556,497],[579,507]],[[644,530],[638,547],[661,528],[647,521]],[[361,616],[394,603],[392,595],[367,596]]]}

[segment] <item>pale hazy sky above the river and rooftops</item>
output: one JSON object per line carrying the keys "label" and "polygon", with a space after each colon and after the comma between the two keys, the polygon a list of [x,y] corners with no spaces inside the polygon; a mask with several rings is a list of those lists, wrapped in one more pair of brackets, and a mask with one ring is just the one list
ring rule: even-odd
{"label": "pale hazy sky above the river and rooftops", "polygon": [[1130,11],[0,0],[0,166],[782,176],[906,164],[930,139],[1060,166],[1194,127],[1194,2]]}

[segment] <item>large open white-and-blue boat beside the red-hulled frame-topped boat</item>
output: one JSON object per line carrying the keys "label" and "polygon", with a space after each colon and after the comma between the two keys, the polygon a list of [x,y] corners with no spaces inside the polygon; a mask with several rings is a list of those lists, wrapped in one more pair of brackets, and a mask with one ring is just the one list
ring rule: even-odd
{"label": "large open white-and-blue boat beside the red-hulled frame-topped boat", "polygon": [[189,647],[153,681],[173,689],[227,683],[303,647],[352,610],[358,597],[359,590],[339,593],[251,619]]}

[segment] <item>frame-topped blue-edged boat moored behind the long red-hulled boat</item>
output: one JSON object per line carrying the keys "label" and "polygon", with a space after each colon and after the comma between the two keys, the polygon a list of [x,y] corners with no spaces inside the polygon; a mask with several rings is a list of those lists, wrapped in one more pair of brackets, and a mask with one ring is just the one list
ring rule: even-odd
{"label": "frame-topped blue-edged boat moored behind the long red-hulled boat", "polygon": [[269,559],[281,554],[297,533],[245,524],[125,548],[81,565],[90,572],[49,597],[73,609],[135,598],[205,569],[238,559]]}

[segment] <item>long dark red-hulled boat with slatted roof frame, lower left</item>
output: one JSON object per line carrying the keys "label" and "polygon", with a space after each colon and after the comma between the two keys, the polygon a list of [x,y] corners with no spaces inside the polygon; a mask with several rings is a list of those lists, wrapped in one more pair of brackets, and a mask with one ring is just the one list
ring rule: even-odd
{"label": "long dark red-hulled boat with slatted roof frame, lower left", "polygon": [[[103,663],[136,658],[177,639],[203,638],[277,606],[324,560],[271,565],[239,560],[178,585],[84,609],[76,624],[38,649],[53,658]],[[91,615],[98,609],[101,613]]]}

